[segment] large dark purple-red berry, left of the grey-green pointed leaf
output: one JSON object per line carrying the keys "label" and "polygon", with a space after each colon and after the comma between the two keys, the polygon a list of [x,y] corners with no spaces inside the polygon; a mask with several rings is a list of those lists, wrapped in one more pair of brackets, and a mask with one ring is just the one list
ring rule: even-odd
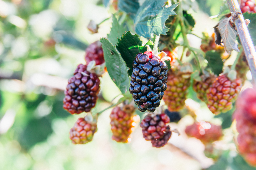
{"label": "large dark purple-red berry, left of the grey-green pointed leaf", "polygon": [[64,92],[63,108],[71,114],[89,112],[95,107],[98,99],[100,80],[95,73],[87,71],[86,68],[83,64],[77,66]]}

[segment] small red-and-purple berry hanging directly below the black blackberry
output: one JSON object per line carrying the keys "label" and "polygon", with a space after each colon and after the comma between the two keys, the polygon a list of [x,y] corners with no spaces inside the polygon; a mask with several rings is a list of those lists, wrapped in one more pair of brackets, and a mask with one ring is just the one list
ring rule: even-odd
{"label": "small red-and-purple berry hanging directly below the black blackberry", "polygon": [[171,137],[170,126],[166,125],[170,118],[162,113],[160,115],[148,114],[140,123],[143,137],[151,141],[153,147],[159,148],[167,144]]}

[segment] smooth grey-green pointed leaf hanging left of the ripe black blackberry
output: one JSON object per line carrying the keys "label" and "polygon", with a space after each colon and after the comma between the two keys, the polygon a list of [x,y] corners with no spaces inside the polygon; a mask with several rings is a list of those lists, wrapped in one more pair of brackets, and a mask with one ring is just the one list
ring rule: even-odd
{"label": "smooth grey-green pointed leaf hanging left of the ripe black blackberry", "polygon": [[120,91],[124,94],[129,89],[129,76],[127,70],[129,69],[117,48],[113,46],[106,38],[101,38],[102,48],[104,52],[105,64],[108,70],[108,74],[117,85]]}

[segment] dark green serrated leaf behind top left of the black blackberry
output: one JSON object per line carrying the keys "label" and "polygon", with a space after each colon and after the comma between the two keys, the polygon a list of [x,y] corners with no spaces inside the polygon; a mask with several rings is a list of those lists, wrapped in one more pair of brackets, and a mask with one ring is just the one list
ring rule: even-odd
{"label": "dark green serrated leaf behind top left of the black blackberry", "polygon": [[[150,40],[145,45],[149,45],[152,49],[154,46],[153,42]],[[121,39],[118,39],[117,50],[126,62],[127,67],[130,68],[128,73],[131,76],[133,72],[133,61],[136,55],[140,52],[144,53],[147,51],[147,46],[142,46],[142,41],[137,34],[132,35],[130,31],[126,31]]]}

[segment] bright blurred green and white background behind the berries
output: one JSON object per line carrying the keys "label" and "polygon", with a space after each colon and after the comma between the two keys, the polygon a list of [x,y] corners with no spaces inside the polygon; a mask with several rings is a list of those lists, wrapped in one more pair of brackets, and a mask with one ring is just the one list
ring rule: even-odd
{"label": "bright blurred green and white background behind the berries", "polygon": [[[216,15],[224,2],[182,1],[196,21],[193,33],[201,36],[206,30],[211,34],[217,20],[209,16]],[[183,132],[186,125],[192,124],[190,116],[171,124],[181,136],[174,134],[170,145],[161,149],[152,148],[150,142],[142,138],[140,128],[129,144],[112,141],[110,109],[99,117],[98,132],[92,142],[71,144],[69,130],[81,115],[71,116],[63,109],[63,90],[76,66],[85,63],[86,47],[106,37],[110,31],[111,19],[103,22],[96,34],[90,34],[87,29],[90,20],[100,23],[116,12],[114,7],[106,8],[104,3],[108,1],[0,0],[0,170],[199,170],[213,164],[204,156],[203,144],[187,138]],[[142,3],[143,0],[139,1]],[[193,35],[188,38],[193,47],[199,48],[199,38]],[[119,94],[105,74],[101,78],[100,99],[95,110],[110,106]],[[188,103],[198,106],[195,108],[198,121],[223,124],[226,138],[220,141],[221,147],[235,150],[230,127],[232,112],[214,117],[196,98],[192,88],[189,98],[193,100]],[[235,159],[236,153],[226,153],[221,161],[229,157]]]}

